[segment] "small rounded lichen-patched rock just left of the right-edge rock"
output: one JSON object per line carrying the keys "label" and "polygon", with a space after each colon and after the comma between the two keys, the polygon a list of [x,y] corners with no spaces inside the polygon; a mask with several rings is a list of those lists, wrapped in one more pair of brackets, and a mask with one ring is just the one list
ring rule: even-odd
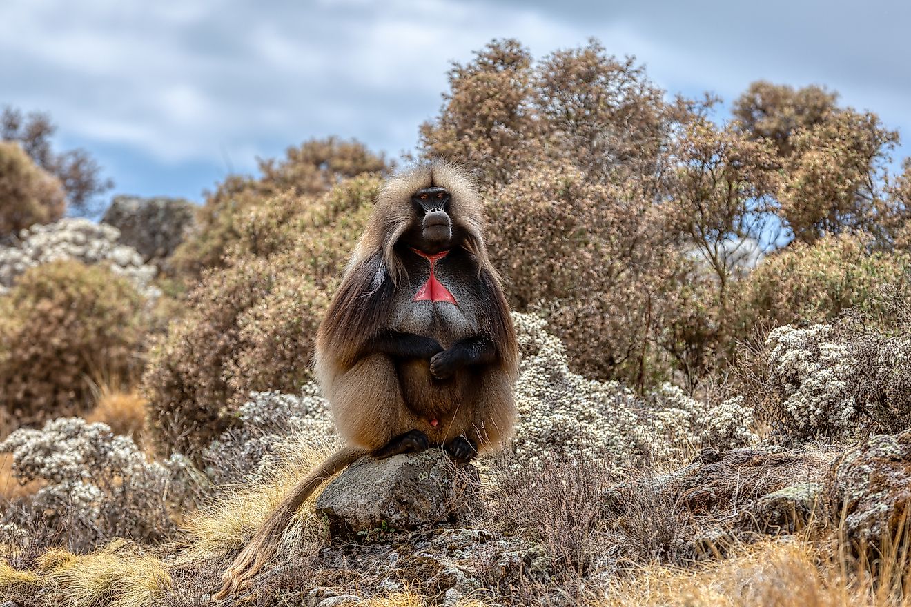
{"label": "small rounded lichen-patched rock just left of the right-edge rock", "polygon": [[814,519],[822,493],[823,486],[818,482],[766,493],[744,512],[741,527],[773,535],[800,531]]}

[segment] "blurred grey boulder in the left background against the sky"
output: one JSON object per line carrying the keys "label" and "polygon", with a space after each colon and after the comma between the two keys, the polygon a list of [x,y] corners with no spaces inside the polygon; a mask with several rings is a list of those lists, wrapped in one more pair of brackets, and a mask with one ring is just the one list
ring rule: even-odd
{"label": "blurred grey boulder in the left background against the sky", "polygon": [[196,208],[183,198],[118,196],[101,222],[118,228],[119,242],[138,250],[146,263],[160,262],[196,227]]}

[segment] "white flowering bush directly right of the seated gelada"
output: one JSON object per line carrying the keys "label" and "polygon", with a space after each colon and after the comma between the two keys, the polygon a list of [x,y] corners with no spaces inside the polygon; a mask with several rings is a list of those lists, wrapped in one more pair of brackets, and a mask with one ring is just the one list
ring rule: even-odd
{"label": "white flowering bush directly right of the seated gelada", "polygon": [[514,313],[522,350],[513,450],[522,464],[567,457],[619,465],[638,457],[667,460],[703,446],[752,444],[752,409],[735,398],[693,400],[670,384],[637,398],[616,381],[586,379],[568,366],[566,347],[546,321]]}

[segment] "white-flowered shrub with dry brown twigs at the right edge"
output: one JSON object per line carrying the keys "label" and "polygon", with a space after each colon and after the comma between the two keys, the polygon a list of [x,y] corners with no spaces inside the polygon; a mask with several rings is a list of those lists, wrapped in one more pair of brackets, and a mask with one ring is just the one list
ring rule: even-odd
{"label": "white-flowered shrub with dry brown twigs at the right edge", "polygon": [[911,317],[906,299],[884,299],[900,319],[893,329],[853,312],[834,324],[778,327],[747,353],[742,392],[778,435],[844,439],[911,425]]}

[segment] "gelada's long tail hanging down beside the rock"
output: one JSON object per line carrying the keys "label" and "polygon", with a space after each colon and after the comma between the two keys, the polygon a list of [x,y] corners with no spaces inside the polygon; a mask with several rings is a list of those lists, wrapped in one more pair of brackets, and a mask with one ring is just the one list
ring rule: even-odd
{"label": "gelada's long tail hanging down beside the rock", "polygon": [[237,555],[228,571],[221,576],[223,582],[221,590],[212,595],[212,599],[220,601],[237,591],[246,582],[259,572],[262,565],[269,561],[275,554],[281,541],[281,534],[291,524],[294,513],[301,504],[316,491],[323,481],[330,479],[333,474],[343,470],[355,460],[367,455],[369,451],[357,448],[346,448],[336,451],[322,465],[308,474],[301,482],[294,486],[292,491],[285,496],[269,518],[262,523],[259,531],[247,546]]}

